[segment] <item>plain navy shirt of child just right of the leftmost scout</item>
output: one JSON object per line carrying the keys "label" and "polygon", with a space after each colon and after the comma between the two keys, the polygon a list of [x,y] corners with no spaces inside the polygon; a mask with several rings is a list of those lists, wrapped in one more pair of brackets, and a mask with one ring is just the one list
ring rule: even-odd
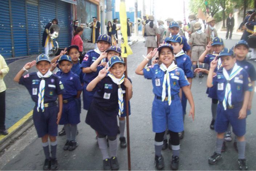
{"label": "plain navy shirt of child just right of the leftmost scout", "polygon": [[63,93],[63,99],[75,98],[77,91],[82,91],[83,87],[77,74],[74,74],[72,71],[69,73],[63,73],[58,71],[56,73],[60,77],[62,84],[65,86],[65,93]]}

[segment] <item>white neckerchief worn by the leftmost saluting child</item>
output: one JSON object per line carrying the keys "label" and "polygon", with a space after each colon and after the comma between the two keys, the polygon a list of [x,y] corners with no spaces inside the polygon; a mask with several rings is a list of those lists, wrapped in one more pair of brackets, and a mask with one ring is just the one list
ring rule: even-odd
{"label": "white neckerchief worn by the leftmost saluting child", "polygon": [[44,78],[48,78],[52,75],[52,72],[48,70],[48,72],[44,75],[39,71],[36,73],[39,78],[42,78],[39,85],[39,93],[38,93],[38,101],[37,101],[37,111],[39,112],[39,108],[41,106],[42,111],[44,111],[44,91],[45,91],[45,80]]}

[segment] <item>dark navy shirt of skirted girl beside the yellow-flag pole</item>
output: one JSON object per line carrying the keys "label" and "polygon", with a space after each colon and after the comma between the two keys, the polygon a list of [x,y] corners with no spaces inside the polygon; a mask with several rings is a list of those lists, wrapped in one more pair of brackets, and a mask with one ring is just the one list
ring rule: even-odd
{"label": "dark navy shirt of skirted girl beside the yellow-flag pole", "polygon": [[[130,78],[128,78],[130,80]],[[130,80],[131,81],[131,80]],[[121,88],[123,90],[123,114],[122,117],[126,116],[126,101],[125,101],[125,90],[126,87],[122,83]],[[107,107],[109,109],[118,108],[118,85],[115,84],[109,76],[103,78],[96,87],[93,89],[95,91],[93,95],[94,101],[97,105],[101,107]],[[129,104],[129,114],[130,114],[130,101]]]}

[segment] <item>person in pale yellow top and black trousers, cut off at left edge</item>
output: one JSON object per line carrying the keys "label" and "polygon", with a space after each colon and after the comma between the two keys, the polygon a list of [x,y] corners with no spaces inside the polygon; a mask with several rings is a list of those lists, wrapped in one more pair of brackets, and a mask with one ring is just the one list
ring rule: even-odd
{"label": "person in pale yellow top and black trousers, cut off at left edge", "polygon": [[5,129],[5,90],[4,76],[9,72],[4,57],[0,54],[0,134],[7,135],[8,131]]}

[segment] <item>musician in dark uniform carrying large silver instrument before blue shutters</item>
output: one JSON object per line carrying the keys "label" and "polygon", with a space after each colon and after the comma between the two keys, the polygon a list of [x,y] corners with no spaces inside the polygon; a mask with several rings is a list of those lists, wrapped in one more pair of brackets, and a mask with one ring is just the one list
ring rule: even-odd
{"label": "musician in dark uniform carrying large silver instrument before blue shutters", "polygon": [[49,28],[53,24],[58,24],[58,20],[57,19],[53,19],[51,22],[49,22],[44,27],[44,33],[43,33],[43,36],[42,36],[42,46],[44,47],[44,53],[46,55],[49,54],[49,50],[51,50],[52,47],[53,47],[53,43],[52,43],[52,41],[50,41],[50,36],[49,36]]}

